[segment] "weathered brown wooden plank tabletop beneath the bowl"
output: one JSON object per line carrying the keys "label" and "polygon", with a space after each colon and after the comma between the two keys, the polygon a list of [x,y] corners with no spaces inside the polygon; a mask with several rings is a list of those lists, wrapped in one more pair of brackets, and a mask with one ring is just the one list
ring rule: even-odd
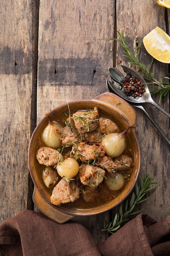
{"label": "weathered brown wooden plank tabletop beneath the bowl", "polygon": [[[24,209],[34,209],[33,183],[27,163],[28,146],[36,124],[46,112],[78,99],[93,99],[108,92],[108,67],[127,64],[123,49],[109,38],[116,30],[136,47],[156,26],[170,34],[170,12],[154,0],[38,0],[2,1],[0,9],[0,222]],[[169,19],[168,19],[169,18]],[[149,67],[144,47],[140,60]],[[168,64],[154,61],[157,79],[168,73]],[[154,97],[159,101],[159,96]],[[162,103],[169,110],[168,97]],[[148,111],[169,134],[169,119],[159,110]],[[140,110],[137,135],[141,145],[141,172],[158,182],[144,212],[156,220],[170,213],[169,145]],[[114,210],[113,210],[114,213]],[[109,212],[76,217],[96,243]]]}

